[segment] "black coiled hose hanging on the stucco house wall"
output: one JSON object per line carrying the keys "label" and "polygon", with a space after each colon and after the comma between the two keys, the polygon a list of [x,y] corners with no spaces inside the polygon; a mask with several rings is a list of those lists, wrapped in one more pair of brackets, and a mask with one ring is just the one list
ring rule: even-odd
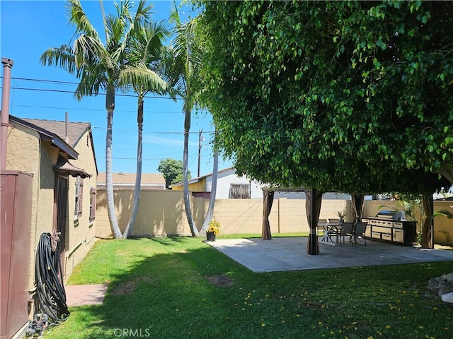
{"label": "black coiled hose hanging on the stucco house wall", "polygon": [[58,246],[55,251],[52,251],[50,233],[42,233],[38,243],[35,279],[38,299],[35,313],[47,314],[54,323],[61,323],[68,319],[69,311],[64,291],[62,263]]}

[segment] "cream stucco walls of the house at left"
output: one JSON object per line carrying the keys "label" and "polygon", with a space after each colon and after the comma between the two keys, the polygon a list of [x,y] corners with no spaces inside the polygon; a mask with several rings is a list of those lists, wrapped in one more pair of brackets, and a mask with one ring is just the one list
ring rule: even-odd
{"label": "cream stucco walls of the house at left", "polygon": [[[32,120],[35,119],[28,119],[26,122],[30,124]],[[13,117],[9,121],[6,170],[33,174],[29,275],[30,290],[33,290],[35,283],[35,255],[40,235],[47,232],[52,233],[54,225],[54,165],[59,159],[61,150],[55,147],[52,141],[43,140],[39,131],[33,129],[33,127],[30,128],[28,125],[24,126],[19,121],[21,119]],[[64,123],[64,121],[57,122]],[[92,176],[83,179],[83,212],[78,222],[74,222],[76,178],[71,175],[68,177],[67,230],[63,263],[65,281],[93,245],[96,228],[94,227],[95,221],[89,221],[90,187],[96,187],[97,177],[96,159],[89,129],[86,129],[80,138],[73,142],[74,148],[70,145],[67,145],[67,147],[75,150],[79,153],[79,156],[78,159],[71,159],[71,164],[84,168]]]}

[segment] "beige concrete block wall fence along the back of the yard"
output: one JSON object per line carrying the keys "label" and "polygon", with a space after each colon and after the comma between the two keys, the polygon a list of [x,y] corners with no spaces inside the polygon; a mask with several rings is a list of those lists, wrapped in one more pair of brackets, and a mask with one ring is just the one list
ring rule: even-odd
{"label": "beige concrete block wall fence along the back of the yard", "polygon": [[[132,194],[132,190],[114,192],[115,212],[122,232],[130,217]],[[96,196],[96,237],[112,237],[105,190],[98,189]],[[435,211],[448,209],[449,203],[451,201],[435,201]],[[398,208],[393,201],[365,201],[364,218],[376,215],[381,204]],[[199,228],[208,206],[209,199],[190,197],[190,208],[195,224]],[[323,200],[319,218],[338,218],[336,212],[339,210],[346,210],[348,214],[345,220],[352,220],[352,202],[350,200]],[[415,220],[420,220],[420,212],[417,208],[415,210]],[[263,201],[261,199],[218,199],[215,202],[213,218],[222,225],[221,234],[260,234],[263,229]],[[275,199],[269,222],[272,234],[309,232],[305,199]],[[132,235],[135,237],[190,235],[190,228],[185,217],[183,191],[142,191]],[[435,242],[453,244],[453,220],[443,216],[435,218]]]}

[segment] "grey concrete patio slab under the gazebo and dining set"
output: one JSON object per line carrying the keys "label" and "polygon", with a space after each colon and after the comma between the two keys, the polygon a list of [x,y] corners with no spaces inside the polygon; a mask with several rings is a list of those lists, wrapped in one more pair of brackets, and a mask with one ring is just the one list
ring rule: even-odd
{"label": "grey concrete patio slab under the gazebo and dining set", "polygon": [[207,242],[253,272],[313,270],[353,266],[394,265],[432,261],[453,261],[451,249],[421,249],[367,240],[367,246],[350,243],[319,244],[320,254],[306,253],[307,237],[274,237],[270,240],[217,239]]}

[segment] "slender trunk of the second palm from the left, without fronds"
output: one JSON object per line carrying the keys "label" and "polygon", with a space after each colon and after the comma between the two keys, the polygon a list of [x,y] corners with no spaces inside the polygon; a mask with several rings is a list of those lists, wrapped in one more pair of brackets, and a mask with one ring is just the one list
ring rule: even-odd
{"label": "slender trunk of the second palm from the left, without fronds", "polygon": [[138,126],[138,144],[137,144],[137,173],[135,174],[134,196],[132,196],[132,210],[130,212],[129,221],[127,222],[125,234],[123,237],[127,239],[134,231],[135,220],[139,210],[140,202],[140,186],[142,184],[142,138],[143,138],[143,97],[139,95],[137,111],[137,126]]}

